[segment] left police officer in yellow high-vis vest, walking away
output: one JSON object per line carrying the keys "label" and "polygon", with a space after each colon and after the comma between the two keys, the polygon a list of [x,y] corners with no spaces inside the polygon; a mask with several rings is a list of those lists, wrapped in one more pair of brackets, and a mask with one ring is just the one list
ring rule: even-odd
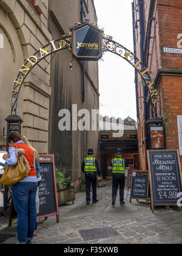
{"label": "left police officer in yellow high-vis vest, walking away", "polygon": [[97,196],[96,196],[96,184],[97,184],[97,175],[98,180],[101,178],[101,173],[99,169],[99,165],[97,160],[93,157],[93,149],[90,148],[88,150],[88,157],[86,157],[82,163],[81,169],[86,177],[86,201],[87,205],[90,204],[90,187],[92,183],[92,192],[93,192],[93,204],[98,202]]}

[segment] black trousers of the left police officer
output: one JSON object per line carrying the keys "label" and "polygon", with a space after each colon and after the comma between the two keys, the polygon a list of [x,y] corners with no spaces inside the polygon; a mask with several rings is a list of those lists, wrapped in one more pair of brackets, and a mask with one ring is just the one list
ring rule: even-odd
{"label": "black trousers of the left police officer", "polygon": [[85,174],[85,176],[86,176],[86,201],[90,201],[91,184],[92,184],[93,201],[96,201],[97,174]]}

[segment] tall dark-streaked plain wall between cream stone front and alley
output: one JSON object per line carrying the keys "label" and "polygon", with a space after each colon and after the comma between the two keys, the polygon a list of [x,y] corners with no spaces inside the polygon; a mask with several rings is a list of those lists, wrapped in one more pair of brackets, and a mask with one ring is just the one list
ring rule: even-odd
{"label": "tall dark-streaked plain wall between cream stone front and alley", "polygon": [[[49,29],[53,40],[69,32],[69,27],[81,22],[81,5],[79,0],[54,0],[49,5]],[[84,18],[90,23],[97,22],[93,1],[84,2]],[[72,63],[72,69],[70,69]],[[67,171],[75,182],[81,180],[81,163],[87,156],[88,148],[93,148],[98,158],[98,129],[92,130],[92,109],[99,109],[98,62],[87,61],[84,68],[85,99],[82,101],[83,63],[75,60],[68,50],[58,52],[51,62],[50,100],[50,137],[49,151],[55,155],[56,165]],[[90,129],[70,129],[60,131],[58,123],[61,119],[58,113],[63,108],[70,112],[71,124],[73,118],[79,119],[84,110],[90,113]],[[81,112],[81,113],[79,113]],[[80,116],[81,115],[81,116]],[[96,122],[98,123],[98,122]],[[72,126],[72,125],[71,125]]]}

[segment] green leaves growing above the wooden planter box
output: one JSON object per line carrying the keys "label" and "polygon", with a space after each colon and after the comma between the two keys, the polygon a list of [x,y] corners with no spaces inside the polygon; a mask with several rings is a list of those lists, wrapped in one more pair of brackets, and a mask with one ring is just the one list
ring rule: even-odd
{"label": "green leaves growing above the wooden planter box", "polygon": [[59,171],[59,169],[55,167],[57,190],[64,190],[65,188],[69,188],[73,186],[72,177],[66,178],[65,174],[66,174],[66,171]]}

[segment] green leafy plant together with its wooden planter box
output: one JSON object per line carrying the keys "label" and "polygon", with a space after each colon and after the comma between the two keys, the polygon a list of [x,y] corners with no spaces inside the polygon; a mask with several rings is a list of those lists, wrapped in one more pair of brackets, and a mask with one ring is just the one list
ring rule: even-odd
{"label": "green leafy plant together with its wooden planter box", "polygon": [[55,168],[56,188],[58,194],[58,205],[67,204],[75,201],[75,187],[72,183],[72,177],[65,177],[66,171],[59,171]]}

